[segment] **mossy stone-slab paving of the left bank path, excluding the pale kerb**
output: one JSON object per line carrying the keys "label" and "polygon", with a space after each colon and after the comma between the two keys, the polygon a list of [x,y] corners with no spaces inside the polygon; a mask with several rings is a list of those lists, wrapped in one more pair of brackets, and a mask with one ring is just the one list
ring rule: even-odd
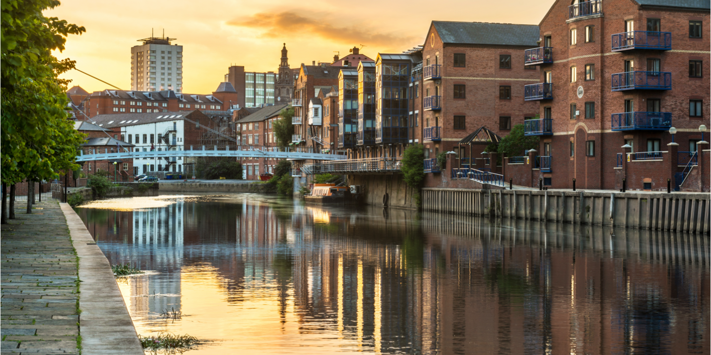
{"label": "mossy stone-slab paving of the left bank path, excluding the pale kerb", "polygon": [[79,354],[77,256],[57,202],[1,227],[1,352]]}

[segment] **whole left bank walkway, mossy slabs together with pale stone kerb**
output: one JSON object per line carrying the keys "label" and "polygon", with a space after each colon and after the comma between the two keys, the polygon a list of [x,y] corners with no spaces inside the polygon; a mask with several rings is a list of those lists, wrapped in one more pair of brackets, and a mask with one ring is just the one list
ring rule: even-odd
{"label": "whole left bank walkway, mossy slabs together with pale stone kerb", "polygon": [[[87,245],[91,236],[88,241],[83,240],[85,236],[77,238],[77,226],[68,224],[68,217],[79,217],[63,207],[40,202],[33,214],[25,214],[26,207],[16,205],[17,219],[1,227],[1,352],[143,354],[106,258],[96,245]],[[82,269],[92,271],[97,253],[108,270],[96,276],[82,273]],[[109,280],[105,280],[107,275]],[[115,287],[107,288],[107,283]],[[113,297],[93,298],[97,292]],[[92,298],[101,301],[90,302]],[[107,310],[112,316],[97,322],[92,319],[92,312],[97,312],[92,308]],[[124,322],[117,323],[116,317]]]}

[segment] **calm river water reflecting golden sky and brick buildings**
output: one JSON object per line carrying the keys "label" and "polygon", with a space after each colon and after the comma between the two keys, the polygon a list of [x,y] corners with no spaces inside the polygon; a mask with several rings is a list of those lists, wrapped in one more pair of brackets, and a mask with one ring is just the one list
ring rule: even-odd
{"label": "calm river water reflecting golden sky and brick buildings", "polygon": [[186,354],[711,351],[709,236],[252,194],[76,210],[149,271],[119,280],[139,334],[209,341]]}

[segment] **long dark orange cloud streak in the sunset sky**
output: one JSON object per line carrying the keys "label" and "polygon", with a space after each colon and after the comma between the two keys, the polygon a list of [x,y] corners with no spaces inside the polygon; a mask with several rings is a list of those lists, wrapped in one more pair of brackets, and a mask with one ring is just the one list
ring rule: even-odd
{"label": "long dark orange cloud streak in the sunset sky", "polygon": [[[326,20],[322,20],[325,18]],[[297,15],[292,11],[282,11],[280,13],[255,13],[245,18],[235,18],[228,21],[228,25],[254,28],[261,31],[266,38],[289,37],[294,34],[316,35],[326,40],[348,45],[374,45],[374,46],[402,46],[419,43],[421,40],[416,36],[400,36],[392,33],[380,33],[375,28],[365,26],[339,27],[328,23],[327,19],[335,19],[330,14],[316,18],[307,18]]]}

